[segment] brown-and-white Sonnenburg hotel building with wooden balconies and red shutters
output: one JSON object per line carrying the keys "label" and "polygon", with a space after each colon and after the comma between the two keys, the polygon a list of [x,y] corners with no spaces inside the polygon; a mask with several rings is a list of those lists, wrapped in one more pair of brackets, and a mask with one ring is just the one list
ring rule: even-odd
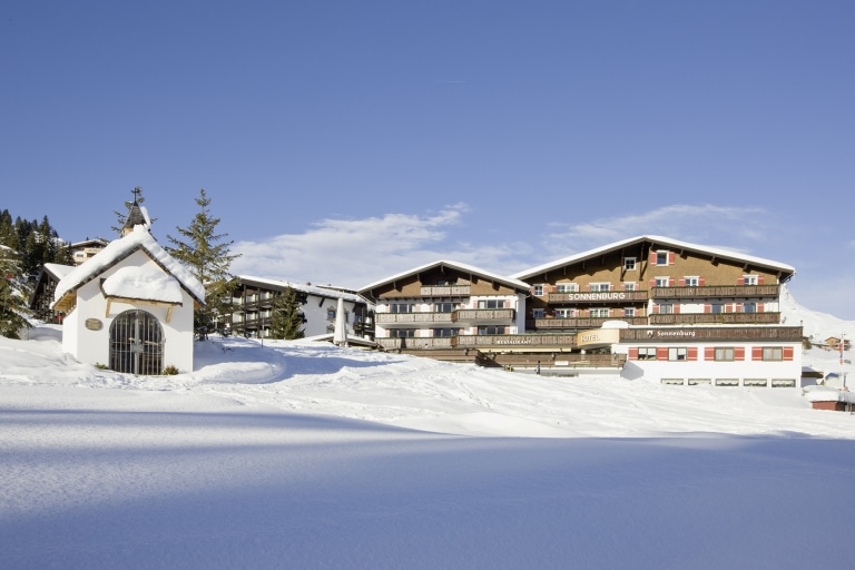
{"label": "brown-and-white Sonnenburg hotel building with wooden balconies and red shutters", "polygon": [[[802,327],[780,315],[786,264],[639,236],[510,277],[438,262],[360,291],[376,342],[551,375],[800,385]],[[435,351],[442,351],[435,352]]]}

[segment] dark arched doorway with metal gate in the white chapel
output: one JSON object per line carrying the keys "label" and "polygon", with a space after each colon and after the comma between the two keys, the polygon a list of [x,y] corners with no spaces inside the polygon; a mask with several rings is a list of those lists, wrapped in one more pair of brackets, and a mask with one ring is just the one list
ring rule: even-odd
{"label": "dark arched doorway with metal gate in the white chapel", "polygon": [[151,313],[126,311],[110,325],[110,370],[163,374],[164,328]]}

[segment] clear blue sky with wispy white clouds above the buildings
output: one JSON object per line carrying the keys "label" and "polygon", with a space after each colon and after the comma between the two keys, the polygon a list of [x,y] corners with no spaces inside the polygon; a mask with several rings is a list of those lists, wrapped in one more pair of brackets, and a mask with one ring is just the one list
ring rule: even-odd
{"label": "clear blue sky with wispy white clouds above the buildings", "polygon": [[855,320],[855,2],[7,2],[0,208],[161,243],[205,188],[240,274],[511,274],[656,234]]}

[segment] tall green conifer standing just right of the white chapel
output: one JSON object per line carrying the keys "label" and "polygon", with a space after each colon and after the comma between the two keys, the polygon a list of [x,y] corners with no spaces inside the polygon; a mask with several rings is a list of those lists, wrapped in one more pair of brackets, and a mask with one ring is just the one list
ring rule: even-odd
{"label": "tall green conifer standing just right of the white chapel", "polygon": [[[179,237],[167,235],[173,246],[166,250],[187,267],[205,286],[205,306],[196,311],[196,328],[213,327],[219,318],[233,312],[232,292],[237,279],[228,272],[232,262],[239,257],[232,255],[229,246],[234,242],[220,240],[228,234],[217,234],[220,219],[210,216],[210,198],[205,189],[196,198],[199,212],[187,228],[176,227]],[[181,239],[184,238],[184,239]]]}

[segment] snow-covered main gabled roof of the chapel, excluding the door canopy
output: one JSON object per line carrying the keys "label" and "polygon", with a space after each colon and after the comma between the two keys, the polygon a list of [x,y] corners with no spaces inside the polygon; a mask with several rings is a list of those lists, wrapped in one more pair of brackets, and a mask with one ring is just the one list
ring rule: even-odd
{"label": "snow-covered main gabled roof of the chapel, excluding the door canopy", "polygon": [[[200,305],[205,304],[205,287],[151,237],[148,228],[138,225],[120,239],[110,242],[88,262],[78,265],[57,284],[51,307],[70,306],[77,289],[137,250],[145,252],[167,274],[175,277],[180,287]],[[131,295],[128,295],[131,296]]]}

